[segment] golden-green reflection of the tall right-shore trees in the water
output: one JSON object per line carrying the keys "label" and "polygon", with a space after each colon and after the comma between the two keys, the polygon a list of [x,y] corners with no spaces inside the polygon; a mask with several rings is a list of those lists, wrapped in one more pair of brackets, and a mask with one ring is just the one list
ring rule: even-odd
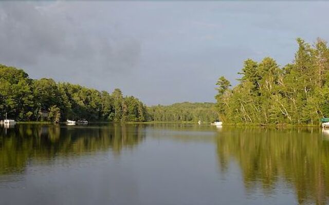
{"label": "golden-green reflection of the tall right-shore trees in the water", "polygon": [[272,193],[279,181],[293,187],[299,203],[329,202],[329,141],[319,129],[224,127],[218,132],[222,171],[234,159],[247,192]]}

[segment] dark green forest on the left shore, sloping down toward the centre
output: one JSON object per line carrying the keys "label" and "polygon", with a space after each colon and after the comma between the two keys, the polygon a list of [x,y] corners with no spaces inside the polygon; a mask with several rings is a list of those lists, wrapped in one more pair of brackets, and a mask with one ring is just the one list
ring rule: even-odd
{"label": "dark green forest on the left shore, sloping down toward the centre", "polygon": [[23,70],[0,64],[0,119],[19,121],[87,119],[145,121],[147,108],[134,96],[112,94],[53,79],[31,79]]}

